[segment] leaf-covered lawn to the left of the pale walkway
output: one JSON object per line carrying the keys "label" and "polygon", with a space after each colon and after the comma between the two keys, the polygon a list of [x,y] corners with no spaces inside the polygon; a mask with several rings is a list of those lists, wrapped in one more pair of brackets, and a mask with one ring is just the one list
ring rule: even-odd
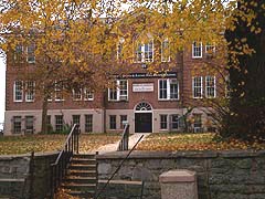
{"label": "leaf-covered lawn to the left of the pale walkway", "polygon": [[[116,143],[120,134],[82,134],[80,140],[81,153],[92,151],[98,147]],[[34,150],[54,151],[61,150],[66,135],[31,135],[0,137],[0,155],[26,154]]]}

